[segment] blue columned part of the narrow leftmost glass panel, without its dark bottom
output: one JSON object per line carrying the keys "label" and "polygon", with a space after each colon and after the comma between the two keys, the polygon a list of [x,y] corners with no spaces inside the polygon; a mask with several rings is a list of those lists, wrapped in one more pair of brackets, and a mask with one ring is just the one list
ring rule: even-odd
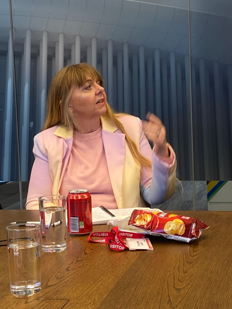
{"label": "blue columned part of the narrow leftmost glass panel, without its dark bottom", "polygon": [[15,181],[19,174],[9,2],[0,5],[0,180]]}

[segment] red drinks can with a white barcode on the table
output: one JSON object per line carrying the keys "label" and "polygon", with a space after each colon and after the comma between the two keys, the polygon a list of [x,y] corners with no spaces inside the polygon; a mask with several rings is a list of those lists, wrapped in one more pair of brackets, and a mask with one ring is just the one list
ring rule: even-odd
{"label": "red drinks can with a white barcode on the table", "polygon": [[84,235],[92,232],[92,201],[87,189],[68,192],[67,218],[70,234]]}

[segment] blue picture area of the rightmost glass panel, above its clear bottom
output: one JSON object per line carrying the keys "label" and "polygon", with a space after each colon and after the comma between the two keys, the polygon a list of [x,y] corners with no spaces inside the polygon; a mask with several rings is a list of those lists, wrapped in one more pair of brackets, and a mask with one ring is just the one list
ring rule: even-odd
{"label": "blue picture area of the rightmost glass panel, above its clear bottom", "polygon": [[195,180],[231,180],[232,3],[190,0]]}

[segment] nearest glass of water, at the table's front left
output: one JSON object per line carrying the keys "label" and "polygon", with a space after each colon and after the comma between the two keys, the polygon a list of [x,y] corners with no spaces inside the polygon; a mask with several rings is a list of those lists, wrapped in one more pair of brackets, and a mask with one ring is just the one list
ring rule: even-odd
{"label": "nearest glass of water, at the table's front left", "polygon": [[40,227],[19,223],[6,227],[10,289],[14,295],[32,295],[41,290]]}

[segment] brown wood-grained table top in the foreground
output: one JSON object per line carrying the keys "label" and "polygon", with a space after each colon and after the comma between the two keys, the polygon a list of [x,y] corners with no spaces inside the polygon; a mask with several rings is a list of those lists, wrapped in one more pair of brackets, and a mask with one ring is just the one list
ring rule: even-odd
{"label": "brown wood-grained table top in the foreground", "polygon": [[[180,212],[174,212],[179,214]],[[7,247],[0,247],[0,307],[56,309],[232,308],[232,212],[182,211],[210,226],[200,239],[182,243],[150,237],[154,251],[111,251],[67,237],[67,250],[41,253],[41,292],[10,293]],[[15,221],[39,221],[36,210],[1,210],[0,240]],[[94,231],[107,231],[107,225]]]}

